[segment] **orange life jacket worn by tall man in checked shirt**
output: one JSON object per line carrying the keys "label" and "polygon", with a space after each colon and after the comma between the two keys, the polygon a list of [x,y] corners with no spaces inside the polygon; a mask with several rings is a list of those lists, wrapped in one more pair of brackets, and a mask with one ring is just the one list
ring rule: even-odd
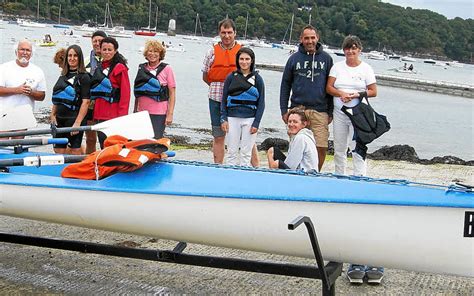
{"label": "orange life jacket worn by tall man in checked shirt", "polygon": [[224,82],[227,75],[237,70],[235,57],[241,47],[238,43],[231,49],[222,48],[220,43],[214,45],[214,62],[207,73],[209,82]]}

